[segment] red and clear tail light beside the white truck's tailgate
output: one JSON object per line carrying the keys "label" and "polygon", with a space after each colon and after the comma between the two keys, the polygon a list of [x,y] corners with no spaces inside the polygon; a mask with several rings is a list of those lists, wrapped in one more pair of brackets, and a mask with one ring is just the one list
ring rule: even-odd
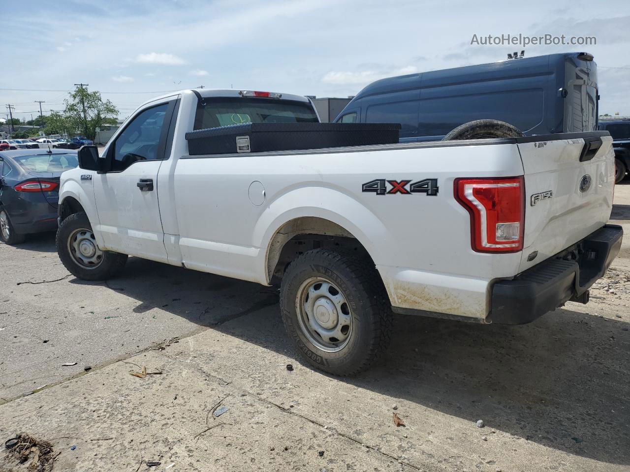
{"label": "red and clear tail light beside the white truck's tailgate", "polygon": [[471,215],[471,243],[478,252],[523,249],[523,177],[455,179],[455,198]]}

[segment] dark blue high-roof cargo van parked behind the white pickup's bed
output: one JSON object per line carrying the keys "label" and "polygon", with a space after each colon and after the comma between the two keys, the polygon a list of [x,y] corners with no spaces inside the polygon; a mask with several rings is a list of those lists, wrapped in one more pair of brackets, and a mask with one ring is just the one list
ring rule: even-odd
{"label": "dark blue high-roof cargo van parked behind the white pickup's bed", "polygon": [[401,123],[401,141],[440,140],[473,120],[501,120],[525,135],[597,128],[597,64],[585,52],[509,59],[373,82],[336,118]]}

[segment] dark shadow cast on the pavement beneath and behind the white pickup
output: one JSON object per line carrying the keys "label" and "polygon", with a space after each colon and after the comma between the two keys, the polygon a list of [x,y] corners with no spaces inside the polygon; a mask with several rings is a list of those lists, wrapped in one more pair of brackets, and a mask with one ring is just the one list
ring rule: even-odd
{"label": "dark shadow cast on the pavement beneath and behind the white pickup", "polygon": [[[137,301],[135,313],[161,308],[265,349],[289,349],[301,361],[273,288],[135,257],[106,285]],[[395,320],[384,359],[358,378],[338,381],[471,422],[483,419],[570,454],[630,464],[628,323],[570,309],[515,327]]]}

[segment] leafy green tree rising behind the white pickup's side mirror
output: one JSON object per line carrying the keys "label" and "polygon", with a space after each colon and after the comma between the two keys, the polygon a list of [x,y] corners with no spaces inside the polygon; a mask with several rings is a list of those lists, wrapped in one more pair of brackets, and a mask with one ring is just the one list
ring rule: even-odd
{"label": "leafy green tree rising behind the white pickup's side mirror", "polygon": [[78,86],[69,96],[64,101],[65,118],[88,139],[96,137],[96,128],[104,125],[106,120],[118,116],[114,104],[109,100],[103,101],[98,91],[89,92],[86,87]]}

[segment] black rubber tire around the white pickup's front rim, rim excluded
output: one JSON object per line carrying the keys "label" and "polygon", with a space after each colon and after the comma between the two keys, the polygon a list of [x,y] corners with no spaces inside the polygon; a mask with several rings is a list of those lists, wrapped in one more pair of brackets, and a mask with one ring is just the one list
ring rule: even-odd
{"label": "black rubber tire around the white pickup's front rim, rim excluded", "polygon": [[[95,247],[99,252],[102,252],[98,264],[95,263],[94,266],[88,267],[86,264],[78,262],[79,257],[74,255],[76,252],[72,252],[69,242],[71,237],[74,238],[77,232],[89,232],[90,234],[92,232],[88,215],[83,211],[68,216],[61,222],[57,230],[57,238],[55,240],[57,244],[57,254],[59,254],[59,259],[66,269],[68,269],[69,273],[83,280],[106,280],[118,274],[122,268],[125,267],[127,254],[119,254],[118,252],[108,250],[101,251],[98,249],[98,246],[96,246],[96,242],[94,242]],[[93,239],[93,235],[91,239]]]}

